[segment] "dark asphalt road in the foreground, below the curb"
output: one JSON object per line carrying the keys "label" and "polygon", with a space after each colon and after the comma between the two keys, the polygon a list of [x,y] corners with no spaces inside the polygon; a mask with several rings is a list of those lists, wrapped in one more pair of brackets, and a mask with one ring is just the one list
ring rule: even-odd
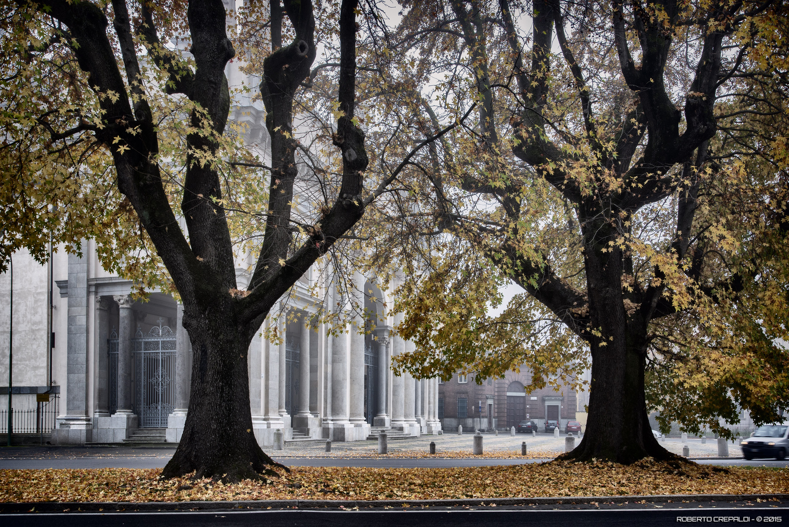
{"label": "dark asphalt road in the foreground, below the curb", "polygon": [[[0,521],[13,527],[93,527],[99,525],[123,527],[192,527],[200,525],[267,525],[289,527],[310,525],[376,525],[376,527],[524,527],[526,525],[676,525],[678,522],[738,522],[776,523],[789,521],[789,510],[768,506],[744,506],[739,504],[686,504],[685,508],[667,508],[653,504],[630,506],[608,506],[600,509],[545,508],[535,510],[529,506],[493,509],[490,507],[458,507],[429,510],[266,510],[266,511],[190,511],[166,513],[61,513],[61,514],[0,514]],[[660,507],[660,508],[658,508]]]}

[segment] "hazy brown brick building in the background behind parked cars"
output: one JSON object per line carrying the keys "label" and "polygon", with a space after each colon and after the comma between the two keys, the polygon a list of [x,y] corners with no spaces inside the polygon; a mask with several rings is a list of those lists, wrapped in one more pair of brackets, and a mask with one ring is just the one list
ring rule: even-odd
{"label": "hazy brown brick building in the background behind parked cars", "polygon": [[535,421],[540,430],[545,420],[559,420],[563,429],[567,421],[576,420],[576,393],[570,386],[554,390],[546,386],[542,390],[525,393],[524,386],[531,374],[523,367],[520,372],[507,371],[504,378],[486,379],[481,385],[474,382],[474,375],[452,375],[439,381],[438,417],[444,431],[456,431],[458,425],[464,431],[477,429],[506,430],[522,420]]}

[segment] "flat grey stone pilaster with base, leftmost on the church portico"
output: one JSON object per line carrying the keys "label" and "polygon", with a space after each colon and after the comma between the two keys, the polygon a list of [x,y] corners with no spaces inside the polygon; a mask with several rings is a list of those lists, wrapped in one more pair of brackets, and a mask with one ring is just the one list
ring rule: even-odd
{"label": "flat grey stone pilaster with base, leftmost on the church portico", "polygon": [[65,415],[58,416],[52,442],[81,445],[92,438],[93,424],[88,416],[88,258],[69,254]]}

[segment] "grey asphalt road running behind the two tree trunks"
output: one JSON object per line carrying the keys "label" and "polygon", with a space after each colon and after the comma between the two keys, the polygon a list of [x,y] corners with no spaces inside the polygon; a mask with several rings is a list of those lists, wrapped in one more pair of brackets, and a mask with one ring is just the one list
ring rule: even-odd
{"label": "grey asphalt road running behind the two tree trunks", "polygon": [[[287,466],[448,469],[489,465],[524,465],[547,459],[496,459],[492,457],[275,457]],[[0,469],[161,469],[170,454],[157,456],[0,457]],[[745,459],[693,459],[702,465],[786,467],[789,461]]]}

